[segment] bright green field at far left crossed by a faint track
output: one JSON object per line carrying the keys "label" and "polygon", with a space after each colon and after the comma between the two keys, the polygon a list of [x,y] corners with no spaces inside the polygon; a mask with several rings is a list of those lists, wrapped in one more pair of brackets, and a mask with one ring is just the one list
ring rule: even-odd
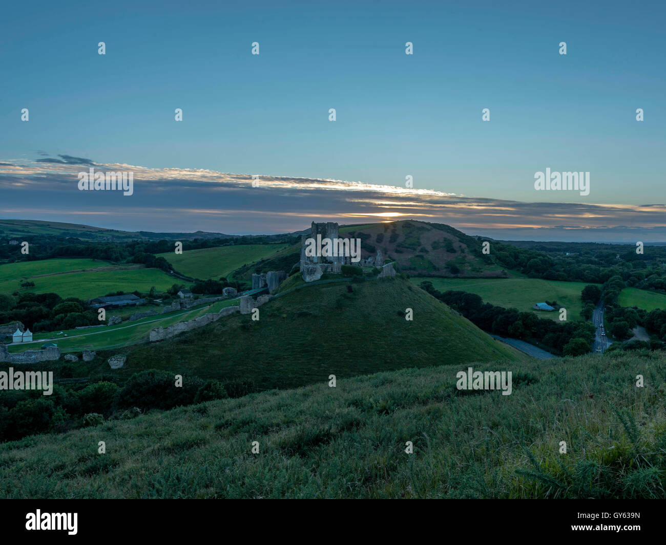
{"label": "bright green field at far left crossed by a faint track", "polygon": [[[22,281],[35,283],[22,288]],[[143,265],[112,265],[89,259],[51,259],[0,265],[0,293],[34,291],[63,298],[91,299],[115,291],[166,290],[176,280],[159,269]]]}

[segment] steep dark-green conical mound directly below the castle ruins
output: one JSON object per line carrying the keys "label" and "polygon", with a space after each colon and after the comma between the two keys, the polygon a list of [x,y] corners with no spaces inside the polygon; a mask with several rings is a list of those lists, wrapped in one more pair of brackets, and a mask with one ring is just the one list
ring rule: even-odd
{"label": "steep dark-green conical mound directly below the castle ruins", "polygon": [[[406,280],[354,283],[352,293],[346,286],[308,285],[260,307],[258,321],[236,314],[138,347],[115,373],[157,368],[289,388],[330,374],[527,358]],[[413,321],[405,319],[408,308]]]}

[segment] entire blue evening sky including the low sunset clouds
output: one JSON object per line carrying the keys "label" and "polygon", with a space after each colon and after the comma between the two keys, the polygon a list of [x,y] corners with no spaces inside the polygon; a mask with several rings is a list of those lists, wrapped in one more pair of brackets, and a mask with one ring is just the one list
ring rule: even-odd
{"label": "entire blue evening sky including the low sunset clouds", "polygon": [[[496,238],[666,242],[663,3],[2,13],[2,218],[228,234],[414,218]],[[133,172],[133,195],[79,190],[90,166]],[[589,194],[535,190],[547,168],[589,172]]]}

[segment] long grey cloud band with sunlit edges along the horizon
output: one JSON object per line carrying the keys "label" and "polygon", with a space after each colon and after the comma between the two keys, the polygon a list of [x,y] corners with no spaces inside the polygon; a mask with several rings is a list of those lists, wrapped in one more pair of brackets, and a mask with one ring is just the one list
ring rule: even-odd
{"label": "long grey cloud band with sunlit edges along the horizon", "polygon": [[[0,214],[158,232],[274,233],[311,221],[445,223],[508,240],[666,242],[664,204],[518,202],[358,181],[95,164],[69,155],[0,164]],[[81,166],[85,168],[81,168]],[[77,174],[134,173],[134,194],[79,191]]]}

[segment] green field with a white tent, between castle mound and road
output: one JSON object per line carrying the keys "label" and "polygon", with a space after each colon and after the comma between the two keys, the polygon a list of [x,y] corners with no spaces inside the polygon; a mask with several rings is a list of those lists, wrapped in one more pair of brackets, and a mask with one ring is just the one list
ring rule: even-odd
{"label": "green field with a white tent, between castle mound and road", "polygon": [[539,278],[424,278],[410,279],[416,285],[424,280],[430,280],[435,289],[447,291],[448,289],[470,291],[484,299],[484,303],[491,303],[499,307],[515,308],[519,311],[532,311],[541,318],[559,320],[556,311],[545,312],[532,308],[534,303],[557,301],[557,304],[567,309],[567,319],[582,320],[581,291],[587,285],[585,282],[562,282],[557,280],[541,280]]}

